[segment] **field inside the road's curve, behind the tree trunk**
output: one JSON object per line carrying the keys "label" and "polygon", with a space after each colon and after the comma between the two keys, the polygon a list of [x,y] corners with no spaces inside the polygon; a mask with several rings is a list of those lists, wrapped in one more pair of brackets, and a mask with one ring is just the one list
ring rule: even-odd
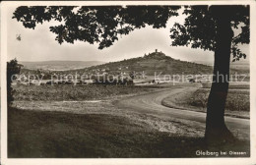
{"label": "field inside the road's curve, behind the tree trunk", "polygon": [[[167,97],[162,104],[180,109],[190,109],[206,112],[210,88],[192,88],[175,97]],[[225,115],[241,118],[250,118],[249,89],[230,88],[225,102]]]}

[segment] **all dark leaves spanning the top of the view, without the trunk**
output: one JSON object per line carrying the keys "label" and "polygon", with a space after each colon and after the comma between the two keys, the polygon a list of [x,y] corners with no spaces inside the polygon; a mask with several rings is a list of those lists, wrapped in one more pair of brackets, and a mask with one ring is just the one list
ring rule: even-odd
{"label": "all dark leaves spanning the top of the view, without the trunk", "polygon": [[[21,6],[14,13],[15,19],[24,27],[34,28],[36,24],[58,21],[59,26],[50,27],[61,44],[75,40],[99,43],[98,48],[109,47],[121,34],[146,27],[166,27],[172,16],[178,16],[180,6]],[[233,36],[231,53],[234,60],[246,57],[238,44],[249,43],[249,6],[226,6],[226,16],[231,27],[241,27],[241,32]],[[184,24],[170,28],[172,46],[191,46],[214,51],[216,49],[218,6],[185,6]],[[222,16],[221,16],[222,17]]]}

